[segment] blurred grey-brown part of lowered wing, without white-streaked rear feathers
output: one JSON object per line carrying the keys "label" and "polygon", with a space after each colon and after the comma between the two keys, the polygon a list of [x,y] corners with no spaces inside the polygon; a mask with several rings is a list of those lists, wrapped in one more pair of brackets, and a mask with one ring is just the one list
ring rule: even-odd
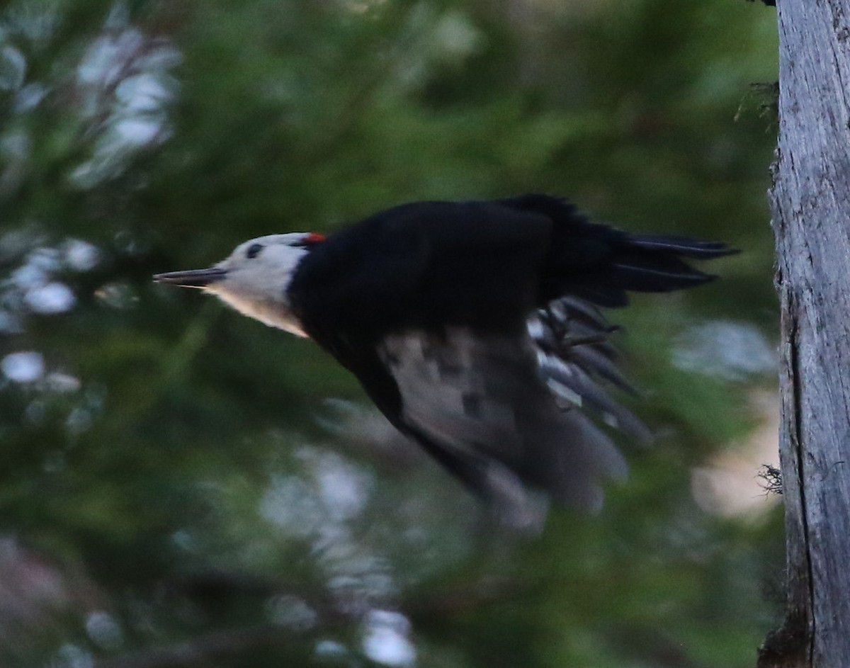
{"label": "blurred grey-brown part of lowered wing, without white-streaked rear feathers", "polygon": [[[595,391],[595,383],[572,383],[577,401],[558,401],[547,383],[560,381],[540,364],[553,357],[528,336],[407,332],[385,339],[380,356],[399,388],[405,430],[496,501],[515,495],[522,480],[558,501],[595,508],[599,481],[626,473],[615,445],[578,406],[578,392]],[[559,373],[580,372],[559,365]]]}

